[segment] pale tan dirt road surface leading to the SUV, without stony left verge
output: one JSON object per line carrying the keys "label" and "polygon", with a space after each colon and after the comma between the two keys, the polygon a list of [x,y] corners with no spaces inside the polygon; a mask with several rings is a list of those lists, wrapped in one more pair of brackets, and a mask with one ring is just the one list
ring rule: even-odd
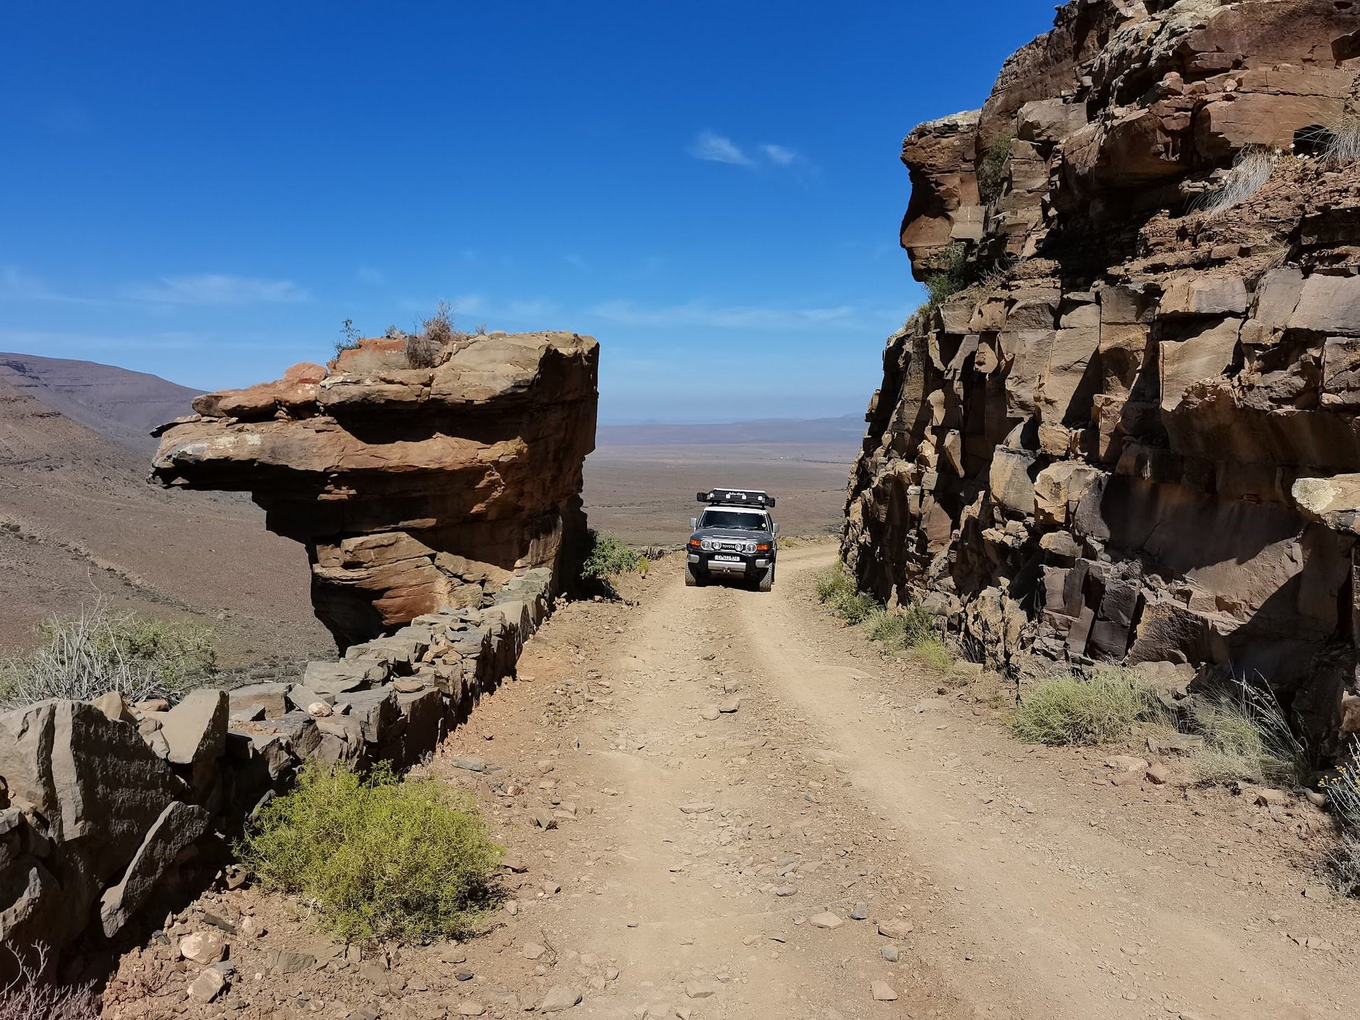
{"label": "pale tan dirt road surface leading to the SUV, without stony left verge", "polygon": [[[581,679],[558,690],[582,722],[548,774],[577,817],[534,836],[564,894],[536,877],[525,913],[543,941],[620,971],[577,1012],[1349,1015],[1356,910],[1278,839],[1253,854],[1227,794],[1115,790],[1108,751],[1036,753],[970,725],[937,676],[889,669],[817,612],[811,575],[834,555],[789,551],[771,594],[685,589],[670,570],[615,627],[596,607],[596,624],[534,641],[537,683],[577,649],[558,677]],[[598,680],[581,676],[594,656]],[[820,928],[826,913],[842,923]],[[898,1000],[874,1001],[876,981]]]}

